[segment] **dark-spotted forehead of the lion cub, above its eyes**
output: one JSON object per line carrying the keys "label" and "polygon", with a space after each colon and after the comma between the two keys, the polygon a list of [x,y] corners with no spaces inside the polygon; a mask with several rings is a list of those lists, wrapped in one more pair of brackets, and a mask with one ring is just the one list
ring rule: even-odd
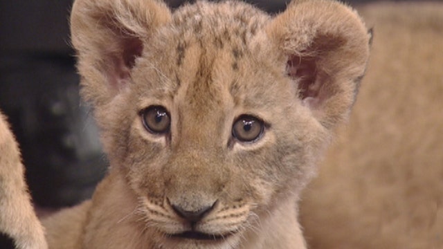
{"label": "dark-spotted forehead of the lion cub, above its eyes", "polygon": [[219,106],[226,94],[239,99],[245,79],[262,73],[255,41],[267,21],[264,12],[237,1],[197,2],[177,10],[145,48],[149,65],[142,67],[154,69],[147,79],[150,91],[160,89],[159,95],[170,98],[181,93],[200,108]]}

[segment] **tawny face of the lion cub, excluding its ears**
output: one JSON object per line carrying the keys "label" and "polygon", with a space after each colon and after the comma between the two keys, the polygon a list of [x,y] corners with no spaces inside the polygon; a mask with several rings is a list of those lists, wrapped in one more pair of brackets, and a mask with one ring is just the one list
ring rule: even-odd
{"label": "tawny face of the lion cub, excluding its ears", "polygon": [[[114,103],[128,120],[111,135],[127,148],[119,164],[147,222],[177,241],[236,243],[279,194],[295,203],[288,191],[306,181],[307,138],[323,135],[280,58],[266,52],[271,44],[257,41],[266,18],[234,7],[239,13],[213,10],[217,18],[177,13]],[[245,10],[254,18],[226,24]]]}

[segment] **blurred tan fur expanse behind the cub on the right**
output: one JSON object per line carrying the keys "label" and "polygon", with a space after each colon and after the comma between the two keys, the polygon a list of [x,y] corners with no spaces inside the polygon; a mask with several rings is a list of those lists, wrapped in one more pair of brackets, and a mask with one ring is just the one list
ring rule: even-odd
{"label": "blurred tan fur expanse behind the cub on the right", "polygon": [[311,248],[443,248],[443,4],[361,8],[374,27],[350,126],[302,197]]}

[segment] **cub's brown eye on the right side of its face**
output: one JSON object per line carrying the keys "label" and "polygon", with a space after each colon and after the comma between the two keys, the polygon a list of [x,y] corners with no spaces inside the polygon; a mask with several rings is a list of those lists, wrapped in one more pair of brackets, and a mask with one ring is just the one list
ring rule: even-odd
{"label": "cub's brown eye on the right side of its face", "polygon": [[240,116],[233,125],[233,137],[240,142],[253,142],[260,138],[264,130],[262,120],[253,116]]}

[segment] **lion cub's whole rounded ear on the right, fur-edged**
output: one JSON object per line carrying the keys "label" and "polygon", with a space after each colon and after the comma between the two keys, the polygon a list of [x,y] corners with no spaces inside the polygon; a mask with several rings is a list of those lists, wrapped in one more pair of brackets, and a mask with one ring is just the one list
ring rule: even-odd
{"label": "lion cub's whole rounded ear on the right, fur-edged", "polygon": [[293,1],[266,33],[314,117],[327,128],[347,118],[369,57],[356,12],[335,1]]}

